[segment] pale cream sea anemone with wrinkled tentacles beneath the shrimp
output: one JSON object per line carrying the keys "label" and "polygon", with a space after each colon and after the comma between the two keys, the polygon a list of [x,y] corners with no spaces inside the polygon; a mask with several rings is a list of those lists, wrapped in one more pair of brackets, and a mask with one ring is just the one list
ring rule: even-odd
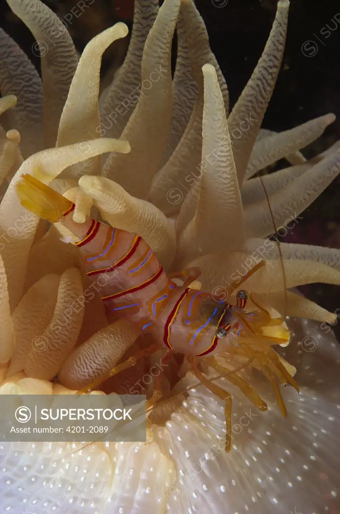
{"label": "pale cream sea anemone with wrinkled tentacles beneath the shrimp", "polygon": [[[262,56],[230,114],[227,86],[192,0],[165,0],[160,9],[156,0],[135,0],[126,60],[101,98],[102,53],[126,35],[126,26],[97,35],[78,64],[67,29],[46,5],[7,2],[37,40],[42,80],[1,32],[0,393],[74,394],[66,384],[90,382],[94,369],[104,373],[144,344],[135,327],[104,310],[80,271],[77,248],[61,241],[70,234],[20,205],[15,185],[24,173],[75,201],[75,221],[92,209],[92,216],[142,235],[166,271],[200,266],[207,292],[264,259],[243,287],[282,311],[278,247],[267,238],[272,217],[254,175],[287,161],[264,183],[276,226],[289,230],[340,172],[338,143],[310,161],[303,156],[332,114],[282,133],[260,128],[281,65],[288,0],[278,2]],[[289,288],[340,284],[339,250],[288,243],[281,250]],[[79,298],[86,301],[74,309]],[[46,334],[65,311],[66,325],[49,341]],[[196,383],[173,359],[169,366],[177,366],[180,381],[165,378],[166,401],[152,413],[147,444],[76,451],[71,443],[1,443],[1,512],[337,512],[340,351],[324,323],[335,317],[294,291],[287,313],[296,318],[288,321],[292,341],[282,355],[296,367],[301,387],[300,395],[284,389],[287,419],[272,407],[267,381],[248,377],[269,405],[262,413],[220,379],[232,395],[235,427],[225,454],[223,402],[199,384],[172,398]],[[36,351],[37,341],[47,341],[44,352]],[[152,362],[115,377],[113,390],[129,391]],[[48,380],[57,373],[61,383]]]}

